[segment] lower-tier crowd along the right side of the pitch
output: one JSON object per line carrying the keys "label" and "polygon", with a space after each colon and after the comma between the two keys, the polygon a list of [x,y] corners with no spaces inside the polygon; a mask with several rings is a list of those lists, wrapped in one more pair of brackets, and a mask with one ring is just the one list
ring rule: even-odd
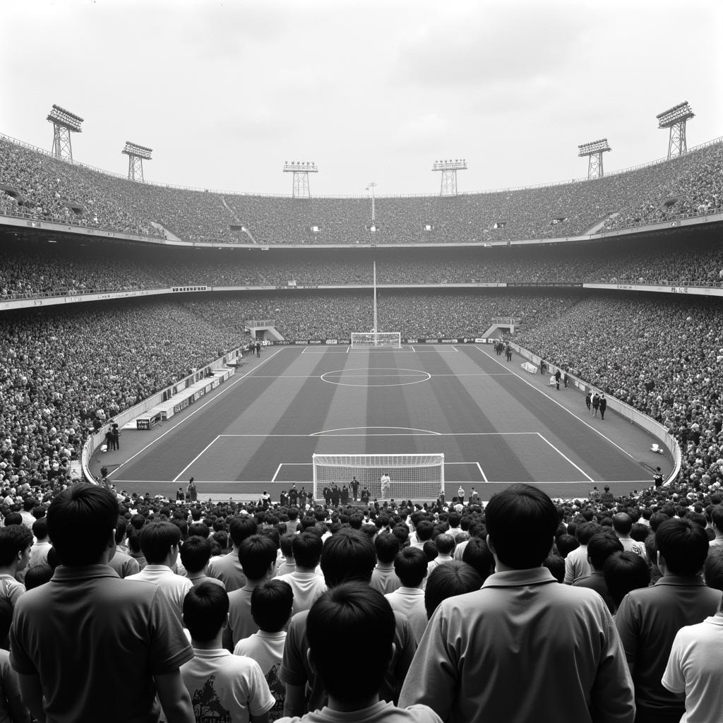
{"label": "lower-tier crowd along the right side of the pitch", "polygon": [[723,471],[723,312],[716,299],[589,296],[515,342],[658,420],[685,479]]}

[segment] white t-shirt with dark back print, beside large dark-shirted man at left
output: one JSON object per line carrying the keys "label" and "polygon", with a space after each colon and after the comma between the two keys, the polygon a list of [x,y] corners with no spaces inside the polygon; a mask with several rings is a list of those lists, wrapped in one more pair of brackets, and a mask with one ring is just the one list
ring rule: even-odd
{"label": "white t-shirt with dark back print, beside large dark-shirted man at left", "polygon": [[181,677],[193,703],[196,720],[248,723],[273,708],[259,664],[228,650],[193,649],[194,658],[181,665]]}

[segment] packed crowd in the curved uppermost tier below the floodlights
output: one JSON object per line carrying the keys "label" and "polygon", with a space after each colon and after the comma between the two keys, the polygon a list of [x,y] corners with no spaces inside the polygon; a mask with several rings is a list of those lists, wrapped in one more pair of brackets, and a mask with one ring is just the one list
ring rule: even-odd
{"label": "packed crowd in the curved uppermost tier below the floodlights", "polygon": [[[254,196],[138,184],[0,137],[0,210],[184,241],[484,243],[576,236],[721,210],[723,144],[593,181],[455,197]],[[155,225],[154,225],[155,224]]]}

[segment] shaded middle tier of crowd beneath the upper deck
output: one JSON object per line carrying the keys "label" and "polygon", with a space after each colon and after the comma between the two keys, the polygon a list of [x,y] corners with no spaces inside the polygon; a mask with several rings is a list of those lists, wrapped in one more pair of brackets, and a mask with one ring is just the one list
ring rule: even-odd
{"label": "shaded middle tier of crowd beneath the upper deck", "polygon": [[[371,286],[451,283],[612,283],[720,286],[714,234],[536,247],[343,250],[168,249],[124,241],[1,237],[0,299],[179,285]],[[149,247],[150,246],[150,247]]]}

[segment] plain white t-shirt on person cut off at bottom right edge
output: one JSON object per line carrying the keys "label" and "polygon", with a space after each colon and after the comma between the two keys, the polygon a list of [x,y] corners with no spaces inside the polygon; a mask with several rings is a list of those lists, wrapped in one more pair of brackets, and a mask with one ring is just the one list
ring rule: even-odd
{"label": "plain white t-shirt on person cut off at bottom right edge", "polygon": [[723,711],[723,615],[680,628],[662,684],[671,693],[685,693],[680,723],[713,723]]}

